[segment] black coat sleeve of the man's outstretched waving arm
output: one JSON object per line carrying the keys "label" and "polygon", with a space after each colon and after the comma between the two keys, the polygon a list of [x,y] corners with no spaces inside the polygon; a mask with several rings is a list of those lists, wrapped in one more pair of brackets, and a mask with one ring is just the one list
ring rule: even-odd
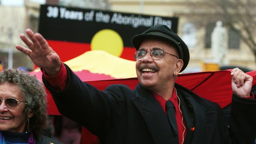
{"label": "black coat sleeve of the man's outstretched waving arm", "polygon": [[63,91],[54,90],[43,77],[43,83],[52,94],[59,112],[97,136],[106,133],[109,127],[115,125],[124,109],[123,90],[119,85],[110,85],[104,91],[97,90],[81,81],[65,66],[68,82]]}

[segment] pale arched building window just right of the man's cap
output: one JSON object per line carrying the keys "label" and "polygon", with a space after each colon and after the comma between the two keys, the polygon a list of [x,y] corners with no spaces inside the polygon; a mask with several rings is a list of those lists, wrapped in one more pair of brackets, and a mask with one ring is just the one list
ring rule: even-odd
{"label": "pale arched building window just right of the man's cap", "polygon": [[196,46],[196,29],[191,22],[186,23],[182,28],[182,39],[189,48]]}

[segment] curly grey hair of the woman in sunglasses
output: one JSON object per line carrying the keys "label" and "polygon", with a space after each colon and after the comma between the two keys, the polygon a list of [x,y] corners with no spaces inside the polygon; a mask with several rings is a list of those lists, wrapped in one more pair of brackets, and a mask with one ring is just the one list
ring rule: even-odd
{"label": "curly grey hair of the woman in sunglasses", "polygon": [[30,128],[33,135],[48,125],[46,92],[42,83],[28,72],[20,69],[5,69],[0,72],[0,84],[4,82],[19,86],[27,102],[27,111],[32,112]]}

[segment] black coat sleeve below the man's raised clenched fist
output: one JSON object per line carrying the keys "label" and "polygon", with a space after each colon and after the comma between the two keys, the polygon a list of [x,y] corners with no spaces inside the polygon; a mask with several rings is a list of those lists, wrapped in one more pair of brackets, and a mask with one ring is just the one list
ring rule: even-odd
{"label": "black coat sleeve below the man's raised clenched fist", "polygon": [[256,100],[233,94],[230,113],[233,144],[254,144],[256,138]]}

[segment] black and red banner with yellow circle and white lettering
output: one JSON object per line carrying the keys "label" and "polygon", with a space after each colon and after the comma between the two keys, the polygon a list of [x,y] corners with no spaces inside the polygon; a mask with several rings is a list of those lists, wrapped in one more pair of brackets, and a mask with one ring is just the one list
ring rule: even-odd
{"label": "black and red banner with yellow circle and white lettering", "polygon": [[134,61],[132,37],[156,24],[176,33],[178,18],[41,5],[39,33],[64,62],[90,50]]}

